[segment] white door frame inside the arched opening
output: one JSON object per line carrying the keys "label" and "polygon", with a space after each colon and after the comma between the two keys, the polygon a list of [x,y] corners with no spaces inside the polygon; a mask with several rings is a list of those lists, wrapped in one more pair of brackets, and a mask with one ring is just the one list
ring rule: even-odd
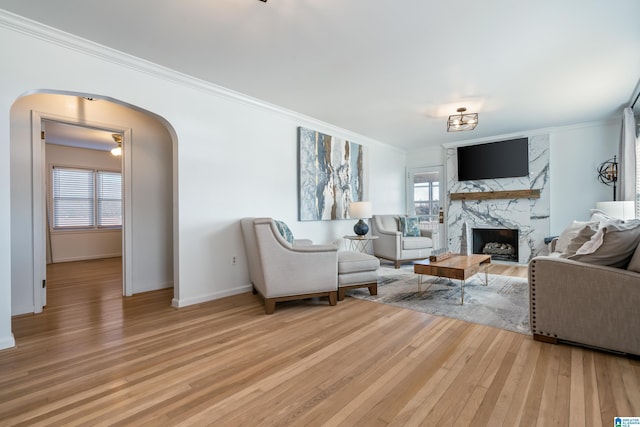
{"label": "white door frame inside the arched opening", "polygon": [[41,313],[46,304],[46,288],[43,281],[46,280],[46,201],[47,197],[47,174],[46,164],[46,142],[41,139],[42,122],[55,121],[76,126],[104,129],[114,133],[122,134],[122,294],[124,296],[133,295],[133,273],[132,273],[132,239],[130,224],[132,218],[131,209],[131,156],[127,153],[131,148],[131,128],[106,123],[98,123],[87,120],[80,120],[75,117],[59,116],[51,113],[31,110],[31,171],[32,171],[32,206],[33,206],[33,308],[34,313]]}

